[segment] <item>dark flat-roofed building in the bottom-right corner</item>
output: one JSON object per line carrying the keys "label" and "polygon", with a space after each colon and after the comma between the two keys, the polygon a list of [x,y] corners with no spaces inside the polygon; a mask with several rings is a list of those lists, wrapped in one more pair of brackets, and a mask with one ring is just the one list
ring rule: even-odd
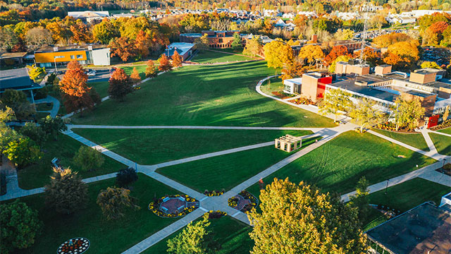
{"label": "dark flat-roofed building in the bottom-right corner", "polygon": [[[450,196],[451,193],[448,193],[447,197]],[[450,201],[450,198],[447,200]],[[369,246],[376,253],[451,253],[450,207],[449,203],[435,207],[424,202],[366,231]]]}

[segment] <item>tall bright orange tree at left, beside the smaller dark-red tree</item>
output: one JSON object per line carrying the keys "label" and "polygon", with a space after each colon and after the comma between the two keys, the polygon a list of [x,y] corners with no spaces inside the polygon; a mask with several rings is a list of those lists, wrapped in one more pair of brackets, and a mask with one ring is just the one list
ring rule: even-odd
{"label": "tall bright orange tree at left, beside the smaller dark-red tree", "polygon": [[87,74],[78,61],[68,63],[67,71],[58,83],[63,92],[64,107],[67,111],[77,111],[83,108],[92,109],[94,100],[91,97],[91,87],[87,86]]}

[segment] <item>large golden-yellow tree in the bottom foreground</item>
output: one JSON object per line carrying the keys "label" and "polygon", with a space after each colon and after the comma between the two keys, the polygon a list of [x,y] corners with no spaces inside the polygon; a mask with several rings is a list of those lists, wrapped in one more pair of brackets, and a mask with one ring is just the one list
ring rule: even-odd
{"label": "large golden-yellow tree in the bottom foreground", "polygon": [[357,210],[338,195],[303,182],[274,179],[260,194],[261,213],[247,215],[254,226],[252,253],[355,253],[366,251]]}

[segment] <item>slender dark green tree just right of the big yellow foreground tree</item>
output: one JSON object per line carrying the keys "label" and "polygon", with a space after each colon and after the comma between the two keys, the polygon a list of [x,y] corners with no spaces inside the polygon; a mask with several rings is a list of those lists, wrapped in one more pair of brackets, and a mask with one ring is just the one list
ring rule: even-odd
{"label": "slender dark green tree just right of the big yellow foreground tree", "polygon": [[365,222],[366,218],[369,216],[371,207],[369,206],[369,183],[366,181],[365,176],[362,176],[361,179],[357,182],[357,186],[355,188],[355,194],[350,196],[349,205],[353,207],[357,207],[359,213],[358,217],[360,222]]}

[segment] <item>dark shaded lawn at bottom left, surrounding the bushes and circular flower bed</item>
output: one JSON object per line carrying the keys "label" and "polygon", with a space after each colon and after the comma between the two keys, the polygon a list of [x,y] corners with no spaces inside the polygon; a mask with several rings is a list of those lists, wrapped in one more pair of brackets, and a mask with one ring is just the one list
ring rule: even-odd
{"label": "dark shaded lawn at bottom left, surrounding the bushes and circular flower bed", "polygon": [[20,198],[27,205],[39,211],[44,222],[42,234],[35,244],[19,253],[56,253],[61,243],[82,236],[89,239],[91,246],[87,253],[121,253],[156,233],[177,219],[157,217],[147,209],[149,202],[156,196],[177,194],[178,191],[139,174],[138,181],[132,186],[131,195],[138,198],[141,209],[125,212],[125,217],[107,221],[96,204],[97,195],[102,189],[115,185],[115,179],[89,184],[87,207],[72,215],[61,215],[45,206],[43,195]]}

